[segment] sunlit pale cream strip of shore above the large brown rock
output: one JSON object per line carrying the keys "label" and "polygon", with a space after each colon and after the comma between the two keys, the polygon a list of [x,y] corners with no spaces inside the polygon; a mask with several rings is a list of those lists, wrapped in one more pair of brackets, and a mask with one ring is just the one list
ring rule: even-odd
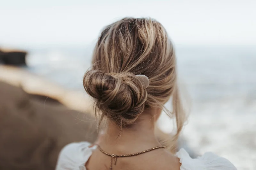
{"label": "sunlit pale cream strip of shore above the large brown rock", "polygon": [[29,94],[49,96],[69,109],[94,115],[93,102],[84,92],[66,89],[22,68],[0,65],[0,81],[22,87]]}

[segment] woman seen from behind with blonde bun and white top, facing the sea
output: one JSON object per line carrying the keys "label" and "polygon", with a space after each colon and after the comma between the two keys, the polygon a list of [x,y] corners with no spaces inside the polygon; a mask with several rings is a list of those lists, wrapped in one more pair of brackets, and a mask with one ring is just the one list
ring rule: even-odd
{"label": "woman seen from behind with blonde bun and white top, facing the sea", "polygon": [[101,33],[84,75],[84,89],[95,99],[100,122],[107,124],[97,145],[72,143],[60,153],[56,170],[207,170],[236,168],[227,159],[205,153],[191,159],[158,142],[154,129],[172,97],[177,140],[185,121],[177,86],[173,45],[164,27],[148,18],[124,18]]}

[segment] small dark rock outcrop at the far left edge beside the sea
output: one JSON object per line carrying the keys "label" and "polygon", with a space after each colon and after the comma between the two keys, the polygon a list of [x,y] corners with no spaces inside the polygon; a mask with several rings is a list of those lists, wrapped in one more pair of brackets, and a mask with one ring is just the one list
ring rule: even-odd
{"label": "small dark rock outcrop at the far left edge beside the sea", "polygon": [[0,62],[7,65],[26,65],[26,51],[0,49]]}

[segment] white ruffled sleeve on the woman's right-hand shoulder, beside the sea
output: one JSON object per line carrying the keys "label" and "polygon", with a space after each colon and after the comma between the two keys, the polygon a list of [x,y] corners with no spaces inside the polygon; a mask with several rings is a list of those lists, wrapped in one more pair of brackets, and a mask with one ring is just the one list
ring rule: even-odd
{"label": "white ruffled sleeve on the woman's right-hand shoulder, beside the sea", "polygon": [[183,148],[176,153],[180,159],[180,170],[237,170],[228,160],[207,152],[197,159],[192,159]]}

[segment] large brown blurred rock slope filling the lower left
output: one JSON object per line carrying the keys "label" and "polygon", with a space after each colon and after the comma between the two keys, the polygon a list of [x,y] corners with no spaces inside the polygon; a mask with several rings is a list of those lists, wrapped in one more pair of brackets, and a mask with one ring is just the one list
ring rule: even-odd
{"label": "large brown blurred rock slope filling the lower left", "polygon": [[97,138],[90,114],[3,82],[0,94],[0,169],[54,170],[66,144]]}

